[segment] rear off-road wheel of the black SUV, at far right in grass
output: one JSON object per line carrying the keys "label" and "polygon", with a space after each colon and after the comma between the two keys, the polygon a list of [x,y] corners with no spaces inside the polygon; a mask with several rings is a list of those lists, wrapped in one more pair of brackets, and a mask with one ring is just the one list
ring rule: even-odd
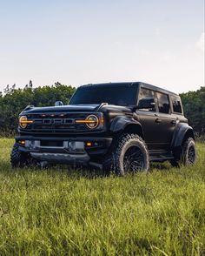
{"label": "rear off-road wheel of the black SUV, at far right in grass", "polygon": [[187,138],[182,144],[182,151],[174,153],[175,158],[169,162],[173,167],[180,165],[194,165],[196,158],[195,140],[194,138]]}

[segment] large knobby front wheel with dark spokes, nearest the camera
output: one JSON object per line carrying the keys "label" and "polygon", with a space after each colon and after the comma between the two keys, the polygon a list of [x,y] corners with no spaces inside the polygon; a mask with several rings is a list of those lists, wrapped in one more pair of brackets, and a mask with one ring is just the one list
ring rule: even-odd
{"label": "large knobby front wheel with dark spokes, nearest the camera", "polygon": [[123,133],[113,143],[112,152],[103,163],[104,172],[123,176],[127,172],[147,172],[149,152],[147,145],[136,134]]}

